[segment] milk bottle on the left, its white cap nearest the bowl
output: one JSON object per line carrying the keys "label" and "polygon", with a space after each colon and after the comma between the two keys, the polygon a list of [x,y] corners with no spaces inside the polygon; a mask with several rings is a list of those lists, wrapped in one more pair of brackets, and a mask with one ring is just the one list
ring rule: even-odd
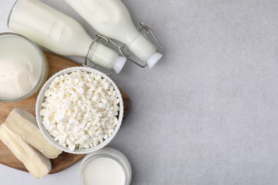
{"label": "milk bottle on the left, its white cap nearest the bowl", "polygon": [[8,26],[54,53],[86,57],[115,73],[120,73],[125,65],[126,58],[94,41],[76,20],[41,1],[16,1]]}

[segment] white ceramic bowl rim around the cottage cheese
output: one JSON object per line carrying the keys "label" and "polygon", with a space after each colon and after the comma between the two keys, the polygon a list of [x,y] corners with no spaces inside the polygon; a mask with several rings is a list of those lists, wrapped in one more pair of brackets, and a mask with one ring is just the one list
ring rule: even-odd
{"label": "white ceramic bowl rim around the cottage cheese", "polygon": [[[61,144],[56,142],[54,140],[54,138],[51,136],[51,134],[48,133],[48,131],[46,130],[46,128],[44,127],[44,125],[42,123],[43,117],[40,115],[40,111],[41,111],[41,108],[42,108],[41,103],[45,99],[44,92],[48,89],[48,86],[51,84],[51,82],[59,75],[63,75],[63,74],[66,74],[66,73],[73,73],[76,70],[82,70],[82,71],[86,71],[86,72],[89,72],[89,73],[96,73],[98,75],[101,75],[106,80],[108,80],[113,85],[114,90],[115,90],[115,92],[118,96],[118,99],[120,100],[120,103],[119,103],[120,110],[119,110],[119,114],[118,114],[118,124],[115,126],[115,129],[114,129],[114,132],[113,132],[112,136],[108,137],[108,139],[105,139],[105,141],[103,143],[98,144],[98,146],[96,146],[96,147],[91,147],[89,149],[75,149],[74,151],[71,151],[70,149],[68,149],[68,147],[63,147]],[[111,80],[104,73],[101,73],[100,71],[95,70],[93,68],[86,68],[86,67],[67,68],[65,70],[61,70],[60,72],[56,73],[51,78],[49,78],[46,81],[46,83],[43,85],[43,88],[41,88],[40,93],[38,93],[38,99],[36,100],[36,120],[38,122],[39,129],[41,129],[41,133],[43,134],[44,137],[46,137],[48,142],[50,142],[54,147],[63,150],[63,152],[68,152],[68,153],[71,153],[71,154],[88,154],[88,153],[91,153],[91,152],[96,152],[98,149],[101,149],[101,148],[105,147],[115,137],[115,134],[117,134],[118,129],[120,129],[121,122],[123,121],[123,98],[120,94],[120,90],[115,85],[113,80]]]}

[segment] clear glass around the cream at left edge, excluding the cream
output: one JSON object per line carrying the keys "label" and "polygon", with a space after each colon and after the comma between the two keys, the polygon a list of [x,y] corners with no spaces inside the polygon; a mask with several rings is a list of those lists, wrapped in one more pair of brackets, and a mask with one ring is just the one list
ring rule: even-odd
{"label": "clear glass around the cream at left edge, excluding the cream", "polygon": [[35,43],[17,33],[0,33],[0,63],[3,60],[12,60],[13,58],[22,58],[33,66],[34,72],[32,73],[34,73],[36,83],[24,95],[18,97],[0,96],[0,102],[16,102],[38,93],[48,77],[46,56]]}

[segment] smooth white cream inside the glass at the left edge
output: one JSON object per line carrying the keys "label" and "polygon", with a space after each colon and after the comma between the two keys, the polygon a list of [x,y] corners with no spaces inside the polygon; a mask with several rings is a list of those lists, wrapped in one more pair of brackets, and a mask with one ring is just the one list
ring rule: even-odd
{"label": "smooth white cream inside the glass at the left edge", "polygon": [[0,97],[22,97],[34,88],[37,80],[34,66],[24,58],[0,60]]}

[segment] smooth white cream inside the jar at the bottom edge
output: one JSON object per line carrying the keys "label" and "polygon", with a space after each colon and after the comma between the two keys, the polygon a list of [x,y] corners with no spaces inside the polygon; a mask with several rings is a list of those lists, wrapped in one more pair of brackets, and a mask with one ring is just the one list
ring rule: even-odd
{"label": "smooth white cream inside the jar at the bottom edge", "polygon": [[122,166],[108,157],[92,159],[83,168],[83,185],[125,185]]}

